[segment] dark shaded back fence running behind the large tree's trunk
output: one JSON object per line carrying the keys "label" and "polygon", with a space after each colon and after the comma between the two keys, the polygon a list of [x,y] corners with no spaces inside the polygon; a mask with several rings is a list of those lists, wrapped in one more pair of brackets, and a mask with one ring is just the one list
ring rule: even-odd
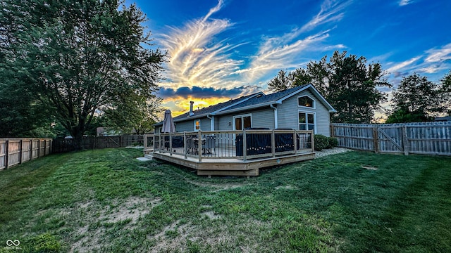
{"label": "dark shaded back fence running behind the large tree's trunk", "polygon": [[[82,139],[82,150],[101,149],[101,148],[121,148],[130,145],[144,145],[144,136],[142,135],[123,135],[123,136],[88,136]],[[75,142],[72,138],[54,139],[53,153],[65,153],[75,150]]]}

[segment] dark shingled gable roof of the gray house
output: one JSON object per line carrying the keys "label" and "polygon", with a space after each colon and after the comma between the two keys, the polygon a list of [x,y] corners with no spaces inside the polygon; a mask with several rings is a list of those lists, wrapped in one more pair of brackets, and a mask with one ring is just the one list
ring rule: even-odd
{"label": "dark shingled gable roof of the gray house", "polygon": [[[194,115],[190,116],[190,112],[185,112],[183,115],[179,115],[174,117],[174,122],[182,122],[187,119],[197,119],[200,117],[206,117],[208,115],[221,115],[230,112],[236,112],[240,110],[250,110],[253,108],[259,108],[266,105],[280,104],[283,100],[290,98],[291,96],[295,96],[297,93],[309,89],[316,98],[321,100],[321,103],[328,108],[329,112],[336,112],[333,109],[332,105],[330,105],[326,98],[321,96],[318,90],[311,84],[304,84],[302,86],[296,86],[291,89],[286,89],[284,91],[279,91],[276,93],[271,93],[266,95],[263,92],[254,93],[248,96],[242,96],[240,98],[231,99],[224,103],[218,103],[216,105],[210,105],[207,108],[202,108],[199,110],[194,110]],[[159,122],[154,124],[154,126],[159,126],[163,124],[163,122]]]}

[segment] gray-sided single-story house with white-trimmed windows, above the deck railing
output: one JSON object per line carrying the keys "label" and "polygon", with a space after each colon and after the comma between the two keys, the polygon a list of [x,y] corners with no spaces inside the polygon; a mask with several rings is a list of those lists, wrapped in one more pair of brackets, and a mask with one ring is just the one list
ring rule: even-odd
{"label": "gray-sided single-story house with white-trimmed windows, above the deck railing", "polygon": [[[277,93],[254,93],[174,117],[175,130],[221,131],[247,128],[314,130],[330,136],[330,112],[336,112],[311,84]],[[155,124],[161,132],[163,122]]]}

